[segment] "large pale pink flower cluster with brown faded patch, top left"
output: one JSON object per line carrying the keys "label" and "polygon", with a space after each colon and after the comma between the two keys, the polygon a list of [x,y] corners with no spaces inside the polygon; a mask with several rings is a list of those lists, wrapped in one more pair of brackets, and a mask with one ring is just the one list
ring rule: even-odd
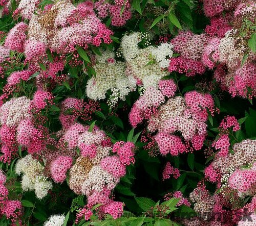
{"label": "large pale pink flower cluster with brown faded patch, top left", "polygon": [[[19,7],[22,7],[22,1]],[[27,8],[32,8],[32,5]],[[73,53],[75,46],[87,48],[89,44],[99,46],[102,42],[112,42],[113,34],[97,18],[92,2],[83,2],[74,6],[70,1],[59,1],[45,11],[29,16],[29,39],[25,46],[25,55],[29,61],[39,61],[46,49],[57,53]]]}

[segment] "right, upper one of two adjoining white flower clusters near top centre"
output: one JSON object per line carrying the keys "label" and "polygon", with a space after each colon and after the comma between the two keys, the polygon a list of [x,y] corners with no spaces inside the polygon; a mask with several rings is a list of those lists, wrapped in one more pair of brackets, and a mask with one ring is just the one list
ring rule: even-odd
{"label": "right, upper one of two adjoining white flower clusters near top centre", "polygon": [[153,84],[156,86],[161,78],[168,75],[168,71],[163,68],[169,65],[168,58],[173,56],[173,45],[162,43],[157,47],[151,45],[139,48],[140,41],[141,33],[124,35],[122,38],[121,47],[126,61],[126,76],[141,80],[145,88],[152,86],[152,79],[154,79]]}

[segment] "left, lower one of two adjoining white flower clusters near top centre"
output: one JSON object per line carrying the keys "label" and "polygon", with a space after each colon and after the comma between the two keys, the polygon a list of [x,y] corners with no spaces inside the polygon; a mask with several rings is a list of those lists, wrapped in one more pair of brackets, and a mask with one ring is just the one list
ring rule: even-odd
{"label": "left, lower one of two adjoining white flower clusters near top centre", "polygon": [[105,51],[102,56],[96,56],[98,62],[94,66],[96,77],[88,81],[86,92],[89,98],[97,100],[104,99],[106,91],[112,90],[110,101],[114,105],[118,98],[124,99],[135,89],[136,80],[125,76],[125,63],[115,62],[113,56],[114,53],[111,51]]}

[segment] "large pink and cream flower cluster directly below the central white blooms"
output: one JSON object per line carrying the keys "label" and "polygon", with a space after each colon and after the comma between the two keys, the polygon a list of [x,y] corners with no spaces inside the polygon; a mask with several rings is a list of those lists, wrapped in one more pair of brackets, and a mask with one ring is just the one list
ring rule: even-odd
{"label": "large pink and cream flower cluster directly below the central white blooms", "polygon": [[[135,127],[144,118],[149,119],[147,129],[157,132],[154,139],[162,155],[176,156],[201,149],[206,136],[207,109],[214,109],[212,97],[191,91],[185,97],[171,97],[164,102],[159,90],[147,89],[130,112],[131,124]],[[178,131],[182,137],[175,135]]]}

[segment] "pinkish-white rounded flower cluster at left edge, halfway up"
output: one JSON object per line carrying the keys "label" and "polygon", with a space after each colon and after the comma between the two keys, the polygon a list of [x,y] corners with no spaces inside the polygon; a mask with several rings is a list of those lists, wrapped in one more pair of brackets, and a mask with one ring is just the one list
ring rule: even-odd
{"label": "pinkish-white rounded flower cluster at left edge, halfway up", "polygon": [[1,124],[6,124],[8,127],[13,127],[14,125],[18,125],[23,119],[30,118],[30,102],[30,99],[28,99],[26,96],[21,96],[18,98],[12,98],[10,101],[2,105],[0,108]]}

